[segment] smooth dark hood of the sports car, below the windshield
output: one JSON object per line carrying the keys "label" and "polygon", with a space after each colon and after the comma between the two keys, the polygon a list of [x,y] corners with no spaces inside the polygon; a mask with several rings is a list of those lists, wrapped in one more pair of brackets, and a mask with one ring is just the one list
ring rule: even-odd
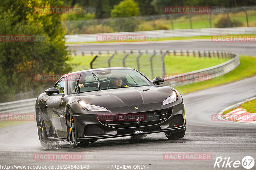
{"label": "smooth dark hood of the sports car, below the windshield", "polygon": [[106,108],[162,103],[172,95],[171,87],[143,86],[79,93],[84,103]]}

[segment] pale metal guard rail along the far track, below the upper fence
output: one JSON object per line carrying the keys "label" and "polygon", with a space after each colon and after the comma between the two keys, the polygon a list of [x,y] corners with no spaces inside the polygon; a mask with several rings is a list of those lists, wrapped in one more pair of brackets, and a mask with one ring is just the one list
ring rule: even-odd
{"label": "pale metal guard rail along the far track, below the upper fence", "polygon": [[[158,30],[139,32],[115,32],[102,33],[100,35],[145,35],[147,40],[172,37],[193,37],[231,34],[256,34],[256,27],[236,27],[236,28],[203,28],[203,29],[182,29],[182,30]],[[66,43],[72,42],[96,42],[99,34],[76,34],[65,35]]]}

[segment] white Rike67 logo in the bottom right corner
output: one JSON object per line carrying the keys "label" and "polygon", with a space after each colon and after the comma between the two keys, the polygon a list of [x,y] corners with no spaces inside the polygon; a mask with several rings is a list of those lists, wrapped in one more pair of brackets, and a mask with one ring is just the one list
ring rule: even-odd
{"label": "white Rike67 logo in the bottom right corner", "polygon": [[240,160],[232,160],[230,157],[217,157],[214,163],[214,168],[238,168],[239,166],[243,166],[245,169],[251,169],[254,167],[254,159],[251,156],[245,156],[242,161]]}

